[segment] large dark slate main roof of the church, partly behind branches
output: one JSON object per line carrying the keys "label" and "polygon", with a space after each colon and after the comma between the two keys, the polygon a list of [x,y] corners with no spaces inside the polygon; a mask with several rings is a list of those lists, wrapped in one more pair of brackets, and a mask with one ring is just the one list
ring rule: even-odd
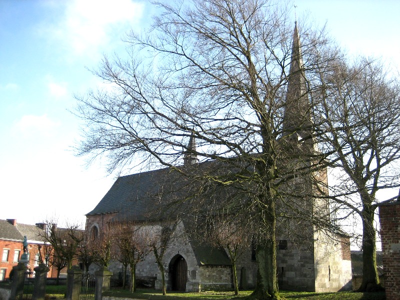
{"label": "large dark slate main roof of the church, partly behind branches", "polygon": [[[221,168],[221,163],[207,161],[195,166],[180,167],[187,172],[216,174],[223,170],[224,174],[231,173],[226,172],[226,167]],[[111,221],[143,221],[174,217],[178,213],[177,207],[182,213],[190,213],[193,208],[190,205],[195,201],[191,200],[190,203],[183,199],[194,198],[198,186],[201,185],[196,180],[190,180],[169,167],[118,177],[86,216],[114,213]],[[216,191],[212,190],[210,194],[201,191],[202,199],[208,199],[207,203],[202,201],[201,208],[206,211],[208,205],[214,208],[216,205],[223,205],[221,199],[228,199],[227,193],[238,194],[237,190],[228,192],[226,188],[220,187]],[[179,205],[173,207],[176,201]]]}

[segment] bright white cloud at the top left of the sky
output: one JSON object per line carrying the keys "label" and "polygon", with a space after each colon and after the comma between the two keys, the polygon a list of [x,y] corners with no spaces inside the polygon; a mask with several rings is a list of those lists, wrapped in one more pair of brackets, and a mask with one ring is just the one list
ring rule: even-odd
{"label": "bright white cloud at the top left of the sky", "polygon": [[65,16],[53,33],[72,54],[93,57],[136,25],[143,7],[143,3],[131,0],[68,1]]}

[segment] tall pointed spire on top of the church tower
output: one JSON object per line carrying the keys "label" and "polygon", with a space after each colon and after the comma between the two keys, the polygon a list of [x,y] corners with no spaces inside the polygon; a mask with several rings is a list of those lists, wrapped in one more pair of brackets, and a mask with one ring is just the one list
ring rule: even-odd
{"label": "tall pointed spire on top of the church tower", "polygon": [[296,132],[296,136],[301,138],[308,135],[306,130],[310,125],[311,118],[297,22],[294,22],[290,70],[287,81],[283,135]]}

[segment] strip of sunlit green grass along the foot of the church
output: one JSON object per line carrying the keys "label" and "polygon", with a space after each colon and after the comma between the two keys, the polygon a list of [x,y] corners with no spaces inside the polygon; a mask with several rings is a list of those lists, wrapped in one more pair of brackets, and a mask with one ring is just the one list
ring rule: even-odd
{"label": "strip of sunlit green grass along the foot of the church", "polygon": [[[244,300],[246,296],[251,293],[251,290],[240,291],[239,296],[233,296],[232,292],[217,292],[217,291],[204,291],[204,292],[193,292],[193,293],[173,293],[167,292],[167,298],[170,300],[183,300],[183,299],[194,299],[194,300],[223,300],[223,299],[237,299]],[[293,292],[293,291],[281,291],[286,299],[299,299],[299,300],[384,300],[384,292]],[[135,297],[142,299],[161,300],[165,299],[164,296],[158,290],[149,289],[138,289],[134,294],[128,292],[126,289],[111,289],[106,292],[105,295],[115,297]]]}

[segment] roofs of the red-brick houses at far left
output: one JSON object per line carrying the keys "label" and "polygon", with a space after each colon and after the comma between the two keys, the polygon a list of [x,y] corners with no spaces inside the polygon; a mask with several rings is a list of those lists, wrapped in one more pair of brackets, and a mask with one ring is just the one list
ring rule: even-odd
{"label": "roofs of the red-brick houses at far left", "polygon": [[41,240],[40,235],[43,232],[42,229],[36,225],[20,224],[12,225],[7,220],[0,220],[0,238],[10,240],[23,240],[23,236],[26,235],[28,240]]}

